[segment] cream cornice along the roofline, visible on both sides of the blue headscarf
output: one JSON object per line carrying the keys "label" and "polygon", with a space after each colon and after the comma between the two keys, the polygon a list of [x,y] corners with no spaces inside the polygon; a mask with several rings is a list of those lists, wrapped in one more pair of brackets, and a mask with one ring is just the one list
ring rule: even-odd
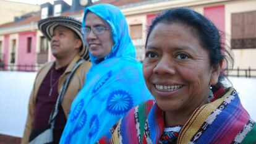
{"label": "cream cornice along the roofline, visible on both sides of the blue headscarf", "polygon": [[[172,7],[192,7],[205,4],[215,4],[228,1],[239,0],[152,0],[147,2],[139,2],[137,4],[126,5],[119,7],[124,15],[138,15],[148,14],[164,11]],[[76,19],[82,19],[83,14],[69,15]],[[13,27],[0,28],[0,35],[7,35],[20,32],[32,32],[38,30],[37,22],[30,22],[23,25],[17,25]]]}

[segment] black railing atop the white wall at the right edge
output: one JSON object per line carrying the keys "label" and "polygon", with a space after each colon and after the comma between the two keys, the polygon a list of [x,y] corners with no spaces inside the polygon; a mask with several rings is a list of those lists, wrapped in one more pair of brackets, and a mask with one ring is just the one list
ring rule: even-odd
{"label": "black railing atop the white wall at the right edge", "polygon": [[229,69],[227,76],[231,77],[256,77],[256,69]]}

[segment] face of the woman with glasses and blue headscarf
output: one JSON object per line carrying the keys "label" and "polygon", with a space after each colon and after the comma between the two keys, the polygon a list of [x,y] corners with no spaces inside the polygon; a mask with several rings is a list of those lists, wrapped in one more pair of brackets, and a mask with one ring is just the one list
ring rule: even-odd
{"label": "face of the woman with glasses and blue headscarf", "polygon": [[[85,27],[90,28],[91,30],[90,33],[85,34],[85,41],[88,44],[90,53],[98,59],[101,59],[111,53],[114,42],[109,24],[98,15],[88,12],[85,18]],[[95,34],[92,31],[95,27],[103,27],[105,28],[105,32]]]}

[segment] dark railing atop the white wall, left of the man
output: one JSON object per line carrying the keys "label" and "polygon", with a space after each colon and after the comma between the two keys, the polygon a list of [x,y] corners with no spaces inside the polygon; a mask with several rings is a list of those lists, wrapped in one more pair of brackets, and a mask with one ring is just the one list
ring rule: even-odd
{"label": "dark railing atop the white wall, left of the man", "polygon": [[22,72],[36,72],[40,67],[40,65],[14,65],[14,64],[2,64],[0,63],[0,70],[4,71],[22,71]]}

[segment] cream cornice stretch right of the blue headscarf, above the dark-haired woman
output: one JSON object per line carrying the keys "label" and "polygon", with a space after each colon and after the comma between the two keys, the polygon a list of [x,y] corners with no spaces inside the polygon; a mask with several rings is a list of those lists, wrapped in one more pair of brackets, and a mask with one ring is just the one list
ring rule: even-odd
{"label": "cream cornice stretch right of the blue headscarf, above the dark-haired woman", "polygon": [[214,4],[219,2],[236,1],[236,0],[173,0],[173,1],[151,1],[148,4],[134,7],[120,7],[124,15],[137,15],[164,11],[172,7],[192,7],[203,4]]}

